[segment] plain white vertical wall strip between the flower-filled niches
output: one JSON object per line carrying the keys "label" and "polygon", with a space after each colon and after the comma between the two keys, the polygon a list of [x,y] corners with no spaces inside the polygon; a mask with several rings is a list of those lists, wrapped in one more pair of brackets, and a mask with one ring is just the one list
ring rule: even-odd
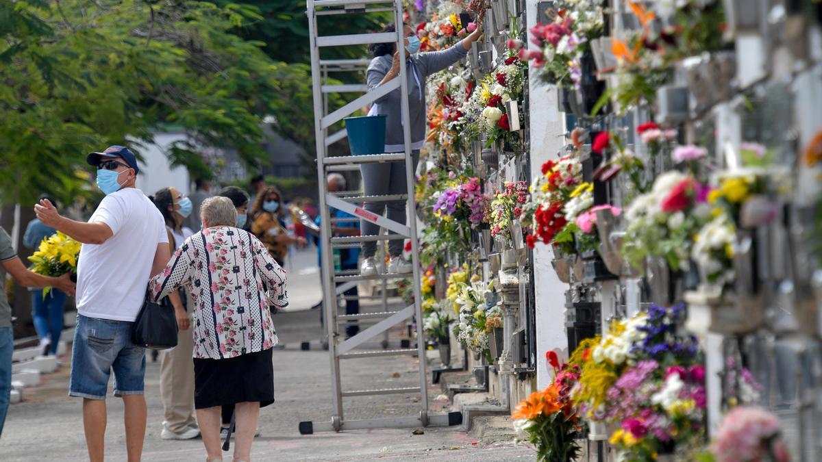
{"label": "plain white vertical wall strip between the flower-filled niches", "polygon": [[[537,23],[537,0],[527,0],[528,28]],[[538,49],[529,42],[529,48]],[[547,159],[556,159],[556,153],[564,146],[565,116],[558,109],[556,87],[539,81],[531,72],[530,132],[531,171],[539,175],[540,167]],[[546,387],[551,380],[545,362],[545,352],[551,349],[568,349],[565,330],[565,291],[568,284],[556,277],[551,266],[552,251],[544,244],[534,248],[534,293],[537,303],[537,387]]]}

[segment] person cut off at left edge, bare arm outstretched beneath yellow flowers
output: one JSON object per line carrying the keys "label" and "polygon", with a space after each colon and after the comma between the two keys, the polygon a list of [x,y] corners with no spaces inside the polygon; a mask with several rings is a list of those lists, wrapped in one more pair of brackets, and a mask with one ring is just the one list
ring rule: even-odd
{"label": "person cut off at left edge, bare arm outstretched beneath yellow flowers", "polygon": [[[12,237],[0,228],[0,280],[6,281],[2,270],[23,287],[53,287],[62,293],[74,295],[75,285],[71,275],[58,278],[38,275],[26,270],[23,261],[17,256],[12,245]],[[14,330],[12,329],[12,307],[8,304],[5,287],[0,290],[0,436],[3,423],[6,421],[9,395],[12,393],[12,352],[14,351]]]}

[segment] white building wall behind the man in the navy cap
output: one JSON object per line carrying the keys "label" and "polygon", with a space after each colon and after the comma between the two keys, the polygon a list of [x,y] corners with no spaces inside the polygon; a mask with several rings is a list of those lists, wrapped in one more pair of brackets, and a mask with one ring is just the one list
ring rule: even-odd
{"label": "white building wall behind the man in the navy cap", "polygon": [[163,187],[176,187],[183,194],[189,193],[191,179],[187,169],[172,168],[165,150],[174,142],[184,140],[182,132],[156,133],[155,143],[140,148],[143,162],[140,162],[140,174],[137,175],[137,187],[146,196],[150,196]]}

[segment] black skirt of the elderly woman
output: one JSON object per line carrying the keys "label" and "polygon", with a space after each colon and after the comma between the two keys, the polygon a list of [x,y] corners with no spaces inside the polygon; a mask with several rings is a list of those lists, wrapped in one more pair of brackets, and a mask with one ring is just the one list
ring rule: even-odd
{"label": "black skirt of the elderly woman", "polygon": [[236,358],[194,358],[194,407],[213,408],[246,401],[274,402],[272,349]]}

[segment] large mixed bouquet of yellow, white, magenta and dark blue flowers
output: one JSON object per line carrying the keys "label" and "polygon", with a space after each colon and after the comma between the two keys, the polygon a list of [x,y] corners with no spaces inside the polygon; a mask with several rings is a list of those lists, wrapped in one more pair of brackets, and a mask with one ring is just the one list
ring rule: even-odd
{"label": "large mixed bouquet of yellow, white, magenta and dark blue flowers", "polygon": [[704,437],[704,367],[695,338],[677,333],[684,316],[683,305],[652,305],[571,356],[581,369],[572,400],[584,417],[616,427],[610,442],[624,460]]}

